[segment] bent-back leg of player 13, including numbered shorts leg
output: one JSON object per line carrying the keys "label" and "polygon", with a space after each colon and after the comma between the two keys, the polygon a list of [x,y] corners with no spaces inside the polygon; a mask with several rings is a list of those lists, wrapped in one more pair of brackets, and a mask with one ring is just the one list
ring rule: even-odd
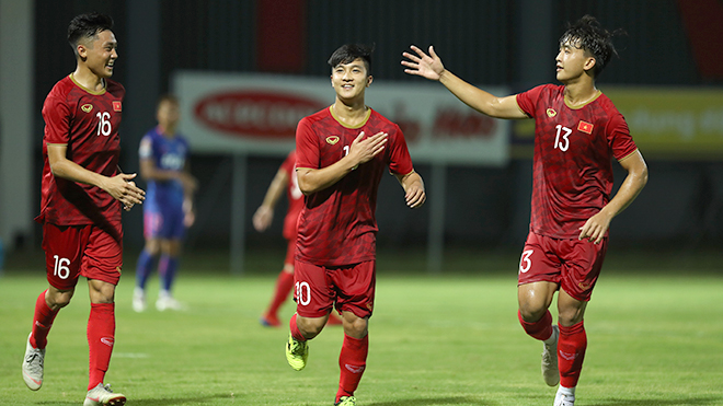
{"label": "bent-back leg of player 13, including numbered shorts leg", "polygon": [[558,326],[548,310],[560,281],[559,258],[551,239],[529,233],[519,262],[517,316],[525,332],[542,341],[541,371],[544,382],[554,386],[560,382],[558,371]]}

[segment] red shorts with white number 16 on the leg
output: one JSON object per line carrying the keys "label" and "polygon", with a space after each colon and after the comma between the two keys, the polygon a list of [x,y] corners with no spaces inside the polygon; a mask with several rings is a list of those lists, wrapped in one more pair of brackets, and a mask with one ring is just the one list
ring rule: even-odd
{"label": "red shorts with white number 16 on the leg", "polygon": [[112,223],[111,232],[96,225],[43,224],[43,250],[48,282],[70,290],[78,277],[118,285],[123,267],[123,230]]}

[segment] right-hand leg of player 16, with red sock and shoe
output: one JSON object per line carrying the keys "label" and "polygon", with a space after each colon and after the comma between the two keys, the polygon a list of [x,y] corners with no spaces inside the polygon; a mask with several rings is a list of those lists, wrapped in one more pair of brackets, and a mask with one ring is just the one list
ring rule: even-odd
{"label": "right-hand leg of player 16, with red sock and shoe", "polygon": [[123,267],[122,241],[120,223],[108,229],[93,227],[87,255],[82,258],[81,275],[88,278],[91,302],[87,329],[90,374],[85,405],[104,405],[111,401],[118,405],[125,403],[124,395],[113,393],[103,383],[115,345],[115,287]]}

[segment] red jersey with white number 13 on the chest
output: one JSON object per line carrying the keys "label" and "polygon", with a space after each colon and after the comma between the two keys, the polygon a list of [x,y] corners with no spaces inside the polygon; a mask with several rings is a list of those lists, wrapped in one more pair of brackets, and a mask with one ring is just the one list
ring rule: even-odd
{"label": "red jersey with white number 13 on the chest", "polygon": [[530,230],[554,239],[579,235],[610,201],[612,158],[638,149],[610,98],[600,94],[573,108],[564,89],[546,84],[517,95],[523,112],[535,118]]}

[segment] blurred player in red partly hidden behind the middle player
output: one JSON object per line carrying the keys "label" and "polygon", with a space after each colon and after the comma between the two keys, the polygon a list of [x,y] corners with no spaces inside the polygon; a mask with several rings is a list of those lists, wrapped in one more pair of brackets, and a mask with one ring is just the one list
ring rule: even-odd
{"label": "blurred player in red partly hidden behind the middle player", "polygon": [[[261,324],[264,326],[278,327],[282,323],[278,321],[278,309],[284,304],[294,288],[294,254],[296,252],[296,235],[299,213],[303,208],[303,194],[299,189],[299,183],[296,176],[296,150],[289,152],[272,179],[264,201],[253,214],[253,227],[259,232],[265,231],[274,219],[274,208],[286,190],[288,199],[288,209],[284,218],[284,237],[287,241],[286,259],[284,268],[276,279],[276,288],[272,295],[268,309],[261,316]],[[329,324],[341,325],[342,321],[336,315],[331,314]]]}

